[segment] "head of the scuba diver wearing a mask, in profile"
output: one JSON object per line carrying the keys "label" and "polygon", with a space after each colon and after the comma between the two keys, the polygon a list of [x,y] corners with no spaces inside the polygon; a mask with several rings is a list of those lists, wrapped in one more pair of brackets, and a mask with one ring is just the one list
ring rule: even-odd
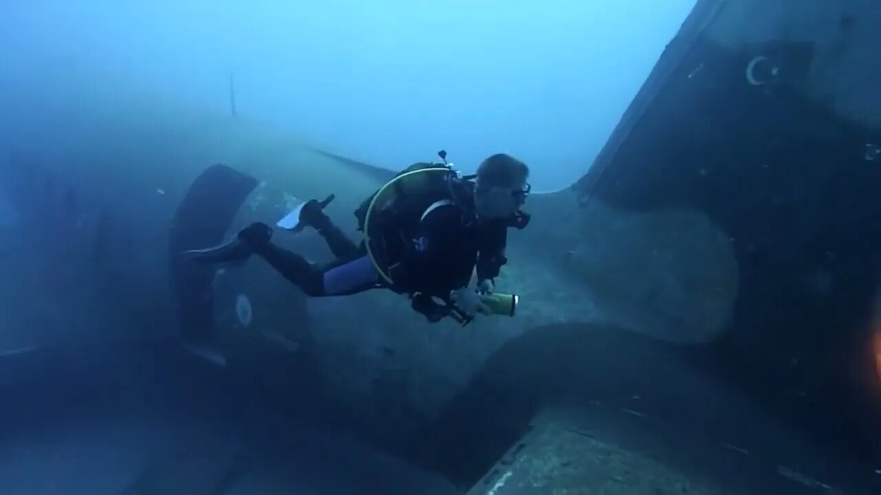
{"label": "head of the scuba diver wearing a mask, in profile", "polygon": [[478,166],[474,205],[478,218],[508,218],[529,196],[529,167],[504,153],[492,155]]}

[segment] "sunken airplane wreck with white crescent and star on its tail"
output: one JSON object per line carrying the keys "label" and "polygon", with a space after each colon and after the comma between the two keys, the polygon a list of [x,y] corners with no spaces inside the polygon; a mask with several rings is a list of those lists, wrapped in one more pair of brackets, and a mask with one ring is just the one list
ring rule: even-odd
{"label": "sunken airplane wreck with white crescent and star on its tail", "polygon": [[[174,321],[151,345],[174,365],[88,355],[159,373],[144,384],[159,396],[194,395],[178,387],[198,379],[212,386],[196,395],[221,409],[268,403],[343,429],[470,495],[877,493],[879,25],[881,5],[859,0],[698,0],[588,174],[529,197],[533,220],[510,234],[497,280],[519,298],[514,316],[467,327],[428,325],[390,292],[307,299],[260,260],[183,262],[182,251],[330,193],[329,214],[354,238],[352,212],[395,174],[290,151],[260,129],[218,129],[191,144],[216,159],[163,188],[175,201],[144,227],[172,303],[150,301]],[[270,144],[284,160],[251,152]],[[151,174],[181,174],[159,167]],[[274,240],[329,261],[311,233],[279,228]],[[0,364],[107,379],[85,351],[45,352]],[[357,463],[361,451],[340,449],[327,458]],[[132,457],[126,492],[289,486],[273,477],[289,463],[232,440],[184,450]]]}

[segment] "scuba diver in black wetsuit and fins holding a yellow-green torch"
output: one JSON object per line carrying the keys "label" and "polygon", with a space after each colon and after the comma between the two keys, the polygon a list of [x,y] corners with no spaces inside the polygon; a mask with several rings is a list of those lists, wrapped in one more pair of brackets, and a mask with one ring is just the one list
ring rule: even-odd
{"label": "scuba diver in black wetsuit and fins holding a yellow-green torch", "polygon": [[[499,309],[494,278],[507,262],[507,229],[524,228],[529,167],[495,154],[477,174],[461,176],[439,151],[442,164],[417,163],[398,173],[355,211],[365,240],[356,245],[324,214],[334,196],[310,200],[299,225],[314,228],[337,258],[325,265],[271,242],[269,225],[254,223],[227,244],[187,251],[192,262],[242,262],[258,255],[310,297],[343,296],[374,288],[406,294],[428,321],[446,316],[463,325],[477,314],[514,314],[516,296]],[[477,288],[470,287],[477,271]],[[507,304],[507,306],[506,306]],[[495,306],[495,307],[493,307]]]}

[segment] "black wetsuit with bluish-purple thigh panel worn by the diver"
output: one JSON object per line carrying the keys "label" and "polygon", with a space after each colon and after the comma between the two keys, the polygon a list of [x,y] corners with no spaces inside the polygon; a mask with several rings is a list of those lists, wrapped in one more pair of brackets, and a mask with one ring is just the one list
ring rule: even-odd
{"label": "black wetsuit with bluish-purple thigh panel worn by the diver", "polygon": [[469,283],[475,268],[479,279],[492,279],[507,262],[504,251],[509,222],[478,221],[469,201],[473,185],[463,181],[456,187],[461,188],[459,194],[445,184],[384,212],[384,248],[374,255],[389,266],[393,285],[376,272],[365,245],[356,246],[329,218],[317,227],[337,257],[327,265],[312,264],[272,243],[254,246],[253,250],[309,296],[349,295],[387,287],[415,295],[414,309],[434,321],[440,319],[436,312],[439,308],[425,296],[447,301],[451,291]]}

